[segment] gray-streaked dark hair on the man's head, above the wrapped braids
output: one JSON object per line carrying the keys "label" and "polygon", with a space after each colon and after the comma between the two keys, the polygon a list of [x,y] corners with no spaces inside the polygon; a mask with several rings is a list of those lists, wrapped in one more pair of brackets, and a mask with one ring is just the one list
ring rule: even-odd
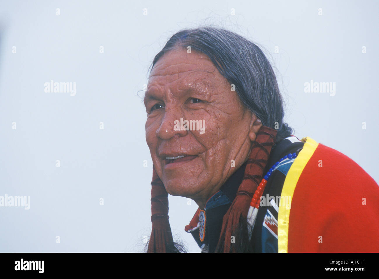
{"label": "gray-streaked dark hair on the man's head, above the wrapped braids", "polygon": [[187,49],[188,46],[210,58],[220,74],[235,85],[241,102],[262,121],[262,125],[277,129],[276,142],[293,134],[293,129],[283,123],[283,98],[273,68],[257,45],[217,27],[181,30],[155,55],[151,70],[169,50]]}

